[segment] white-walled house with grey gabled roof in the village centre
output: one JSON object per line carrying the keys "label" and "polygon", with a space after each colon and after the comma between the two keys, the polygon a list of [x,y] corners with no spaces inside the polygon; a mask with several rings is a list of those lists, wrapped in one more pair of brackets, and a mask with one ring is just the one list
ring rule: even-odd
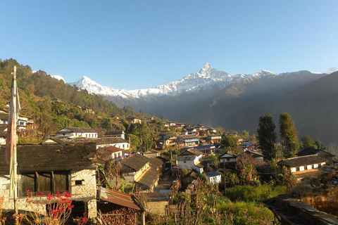
{"label": "white-walled house with grey gabled roof in the village centre", "polygon": [[178,169],[182,169],[182,167],[194,169],[199,174],[204,171],[204,166],[200,163],[202,160],[202,153],[198,150],[185,150],[183,153],[177,156],[176,160]]}

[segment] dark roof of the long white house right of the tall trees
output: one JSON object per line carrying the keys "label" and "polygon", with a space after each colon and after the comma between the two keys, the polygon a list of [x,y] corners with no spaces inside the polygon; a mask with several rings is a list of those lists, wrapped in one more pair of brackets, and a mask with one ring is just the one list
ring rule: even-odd
{"label": "dark roof of the long white house right of the tall trees", "polygon": [[321,158],[319,155],[305,155],[295,158],[289,158],[277,162],[278,165],[284,165],[286,167],[301,167],[305,165],[313,165],[321,162],[326,162],[324,158]]}

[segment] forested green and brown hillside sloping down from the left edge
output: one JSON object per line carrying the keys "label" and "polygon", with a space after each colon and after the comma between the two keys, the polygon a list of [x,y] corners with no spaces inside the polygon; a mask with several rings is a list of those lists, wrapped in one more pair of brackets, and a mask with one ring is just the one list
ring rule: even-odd
{"label": "forested green and brown hillside sloping down from the left edge", "polygon": [[[20,114],[35,119],[35,124],[44,136],[61,127],[111,129],[109,117],[134,115],[134,110],[130,107],[120,109],[101,96],[74,89],[42,70],[33,72],[29,65],[20,65],[14,59],[0,60],[0,108],[6,108],[6,103],[10,100],[14,65],[17,66]],[[56,98],[57,101],[52,101]],[[82,113],[80,106],[92,108],[95,113]],[[107,125],[107,122],[110,124]]]}

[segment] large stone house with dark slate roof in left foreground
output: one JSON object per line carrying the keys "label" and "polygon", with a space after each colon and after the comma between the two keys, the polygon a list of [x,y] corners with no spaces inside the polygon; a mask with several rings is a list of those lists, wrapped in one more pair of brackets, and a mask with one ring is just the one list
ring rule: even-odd
{"label": "large stone house with dark slate roof in left foreground", "polygon": [[[0,195],[5,197],[4,210],[13,210],[13,198],[9,198],[9,165],[4,162],[4,148],[0,150]],[[39,201],[46,200],[47,193],[67,191],[72,196],[73,212],[87,212],[96,217],[96,177],[94,158],[96,148],[90,144],[68,145],[18,145],[18,210],[30,211],[27,190]],[[35,197],[36,196],[36,197]],[[46,210],[41,205],[40,212]]]}

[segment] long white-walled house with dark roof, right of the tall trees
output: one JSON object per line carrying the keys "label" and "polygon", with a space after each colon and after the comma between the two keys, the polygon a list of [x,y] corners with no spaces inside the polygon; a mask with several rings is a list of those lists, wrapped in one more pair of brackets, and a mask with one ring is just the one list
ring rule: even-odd
{"label": "long white-walled house with dark roof, right of the tall trees", "polygon": [[300,174],[318,170],[326,163],[327,160],[319,155],[304,155],[281,160],[277,162],[277,165],[288,167],[293,174]]}

